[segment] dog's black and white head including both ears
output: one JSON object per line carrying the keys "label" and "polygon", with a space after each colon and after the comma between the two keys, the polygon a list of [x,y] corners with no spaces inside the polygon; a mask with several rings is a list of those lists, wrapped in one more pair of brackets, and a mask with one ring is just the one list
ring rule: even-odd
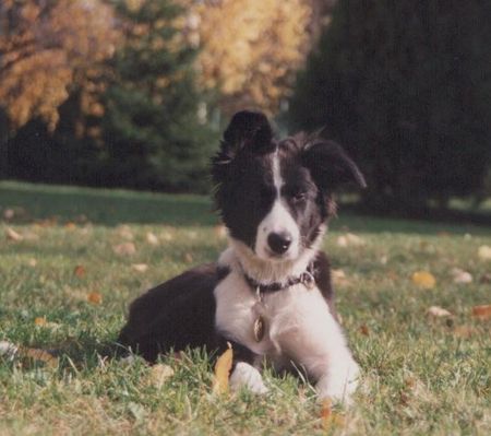
{"label": "dog's black and white head including both ears", "polygon": [[261,113],[240,111],[213,158],[215,200],[230,237],[262,259],[295,260],[334,213],[333,192],[364,178],[343,149],[319,137],[273,138]]}

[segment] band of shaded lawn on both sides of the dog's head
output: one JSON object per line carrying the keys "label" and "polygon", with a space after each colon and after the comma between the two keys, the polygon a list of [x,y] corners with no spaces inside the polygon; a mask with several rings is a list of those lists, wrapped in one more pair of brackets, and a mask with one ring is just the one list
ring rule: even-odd
{"label": "band of shaded lawn on both sides of the dog's head", "polygon": [[[237,199],[240,201],[240,199]],[[56,219],[58,223],[91,222],[113,226],[121,223],[166,224],[172,226],[209,226],[219,222],[209,197],[166,195],[119,189],[92,189],[0,182],[0,214],[12,209],[13,223],[32,223]],[[1,215],[0,215],[1,220]],[[491,234],[491,214],[471,215],[454,212],[424,220],[374,216],[340,205],[339,217],[330,226],[334,231],[355,233],[403,234]]]}

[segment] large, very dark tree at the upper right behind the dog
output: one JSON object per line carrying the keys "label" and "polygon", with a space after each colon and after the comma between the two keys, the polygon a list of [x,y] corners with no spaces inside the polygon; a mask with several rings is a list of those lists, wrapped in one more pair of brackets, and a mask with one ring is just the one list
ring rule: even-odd
{"label": "large, very dark tree at the upper right behind the dog", "polygon": [[445,205],[480,188],[491,153],[491,5],[340,1],[290,101],[327,126],[368,176],[376,208]]}

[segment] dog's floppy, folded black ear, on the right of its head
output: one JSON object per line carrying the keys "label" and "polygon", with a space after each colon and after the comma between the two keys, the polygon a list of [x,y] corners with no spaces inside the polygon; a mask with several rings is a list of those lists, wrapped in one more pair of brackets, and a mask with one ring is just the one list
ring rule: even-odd
{"label": "dog's floppy, folded black ear, on the right of its head", "polygon": [[350,181],[367,187],[357,164],[334,141],[308,142],[302,151],[302,164],[321,189],[335,190]]}

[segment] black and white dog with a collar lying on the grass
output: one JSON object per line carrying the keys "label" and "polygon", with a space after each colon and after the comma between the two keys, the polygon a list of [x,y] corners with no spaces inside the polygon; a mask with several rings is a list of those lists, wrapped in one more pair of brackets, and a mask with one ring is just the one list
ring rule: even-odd
{"label": "black and white dog with a collar lying on the grass", "polygon": [[232,343],[233,389],[266,392],[265,362],[302,368],[321,398],[346,400],[359,373],[319,250],[333,191],[364,179],[335,143],[299,134],[276,141],[261,113],[236,114],[213,158],[216,207],[229,233],[217,263],[148,291],[130,308],[119,342],[155,361],[188,346]]}

